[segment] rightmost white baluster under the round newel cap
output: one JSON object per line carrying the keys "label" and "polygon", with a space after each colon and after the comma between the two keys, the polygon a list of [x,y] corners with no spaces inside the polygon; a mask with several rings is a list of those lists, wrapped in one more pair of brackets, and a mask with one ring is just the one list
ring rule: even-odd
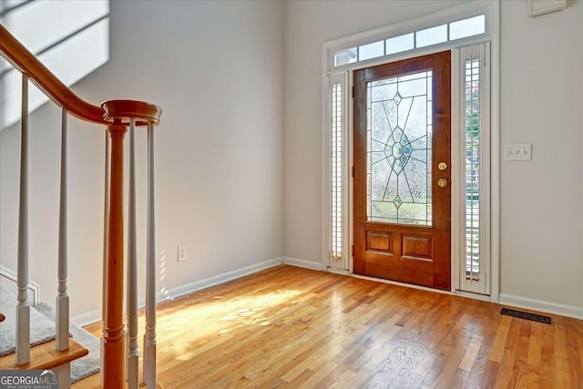
{"label": "rightmost white baluster under the round newel cap", "polygon": [[156,387],[156,220],[154,207],[154,124],[148,124],[148,251],[146,268],[146,333],[144,383]]}

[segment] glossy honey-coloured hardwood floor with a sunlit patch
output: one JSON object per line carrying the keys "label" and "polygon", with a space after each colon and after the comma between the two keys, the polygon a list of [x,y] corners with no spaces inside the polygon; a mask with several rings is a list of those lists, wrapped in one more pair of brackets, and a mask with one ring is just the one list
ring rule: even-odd
{"label": "glossy honey-coloured hardwood floor with a sunlit patch", "polygon": [[159,304],[158,379],[166,389],[583,388],[583,321],[550,316],[278,266]]}

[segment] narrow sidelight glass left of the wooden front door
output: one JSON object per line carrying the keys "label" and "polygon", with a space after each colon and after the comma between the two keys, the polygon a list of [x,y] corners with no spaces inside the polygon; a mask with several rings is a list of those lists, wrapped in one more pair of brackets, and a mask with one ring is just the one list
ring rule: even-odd
{"label": "narrow sidelight glass left of the wooden front door", "polygon": [[343,254],[343,88],[332,85],[332,259]]}

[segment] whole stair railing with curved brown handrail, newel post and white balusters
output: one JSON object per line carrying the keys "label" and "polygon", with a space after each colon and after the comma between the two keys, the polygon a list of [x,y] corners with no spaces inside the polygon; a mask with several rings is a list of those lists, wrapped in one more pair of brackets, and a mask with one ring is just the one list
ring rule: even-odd
{"label": "whole stair railing with curved brown handrail, newel post and white balusters", "polygon": [[[36,57],[0,25],[0,55],[22,74],[22,116],[20,150],[20,194],[18,212],[16,365],[30,362],[30,307],[28,286],[28,85],[33,82],[57,106],[62,107],[61,168],[58,227],[58,280],[56,295],[56,351],[69,348],[69,296],[67,294],[67,225],[66,225],[66,119],[73,115],[87,122],[105,125],[106,183],[104,222],[104,291],[102,337],[102,386],[138,388],[138,261],[136,255],[136,162],[135,128],[148,131],[148,236],[146,331],[144,335],[143,382],[156,387],[156,245],[154,215],[154,127],[159,124],[161,109],[134,100],[109,100],[100,107],[77,97]],[[128,228],[128,339],[126,339],[124,292],[124,220],[123,175],[124,138],[129,129],[129,228]],[[126,340],[128,349],[126,350]],[[126,365],[128,369],[126,370]],[[59,387],[70,387],[69,363],[59,367]]]}

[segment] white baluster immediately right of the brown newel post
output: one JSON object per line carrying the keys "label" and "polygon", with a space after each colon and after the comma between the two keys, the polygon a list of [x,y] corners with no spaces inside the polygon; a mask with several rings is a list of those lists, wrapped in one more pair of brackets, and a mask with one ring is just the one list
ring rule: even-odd
{"label": "white baluster immediately right of the brown newel post", "polygon": [[128,388],[138,388],[138,252],[136,249],[136,120],[129,126]]}

